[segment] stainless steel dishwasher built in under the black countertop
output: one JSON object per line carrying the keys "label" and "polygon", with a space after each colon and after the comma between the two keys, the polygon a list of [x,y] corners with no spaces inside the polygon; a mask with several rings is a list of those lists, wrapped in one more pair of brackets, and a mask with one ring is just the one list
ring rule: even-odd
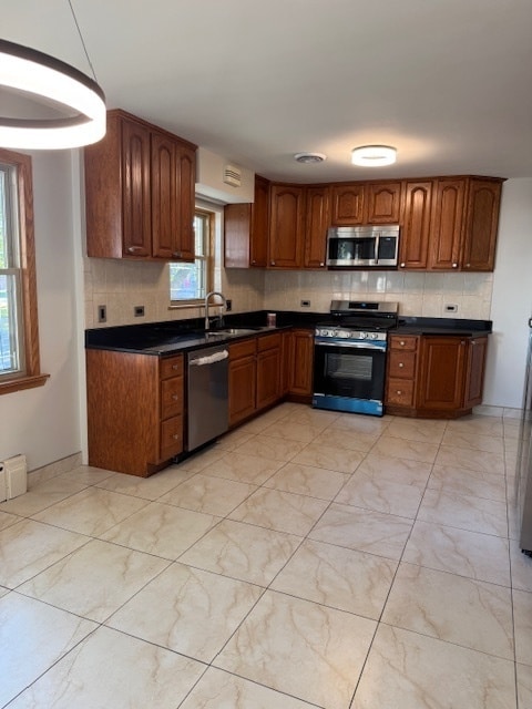
{"label": "stainless steel dishwasher built in under the black countertop", "polygon": [[229,424],[227,347],[205,347],[187,354],[188,432],[186,450],[225,433]]}

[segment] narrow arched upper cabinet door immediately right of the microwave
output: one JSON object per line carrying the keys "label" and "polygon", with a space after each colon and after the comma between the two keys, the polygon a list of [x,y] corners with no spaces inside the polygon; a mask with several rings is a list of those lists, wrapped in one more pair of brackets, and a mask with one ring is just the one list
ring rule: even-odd
{"label": "narrow arched upper cabinet door immediately right of the microwave", "polygon": [[399,267],[424,270],[429,259],[432,182],[405,183]]}

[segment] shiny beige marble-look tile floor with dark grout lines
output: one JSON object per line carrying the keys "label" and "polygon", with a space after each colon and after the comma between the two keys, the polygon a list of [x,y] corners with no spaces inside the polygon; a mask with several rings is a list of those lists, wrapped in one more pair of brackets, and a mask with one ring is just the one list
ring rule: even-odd
{"label": "shiny beige marble-look tile floor with dark grout lines", "polygon": [[0,706],[531,709],[518,430],[284,403],[149,480],[31,485],[0,504]]}

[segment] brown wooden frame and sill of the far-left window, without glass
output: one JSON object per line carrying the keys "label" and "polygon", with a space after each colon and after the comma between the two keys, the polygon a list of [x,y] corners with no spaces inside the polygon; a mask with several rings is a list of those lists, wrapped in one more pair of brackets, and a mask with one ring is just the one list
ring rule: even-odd
{"label": "brown wooden frame and sill of the far-left window, without glass", "polygon": [[0,394],[42,387],[50,374],[41,373],[39,353],[39,317],[37,309],[35,239],[33,227],[33,181],[29,155],[0,147],[0,163],[14,167],[18,188],[18,222],[20,249],[21,326],[23,341],[21,371],[0,373]]}

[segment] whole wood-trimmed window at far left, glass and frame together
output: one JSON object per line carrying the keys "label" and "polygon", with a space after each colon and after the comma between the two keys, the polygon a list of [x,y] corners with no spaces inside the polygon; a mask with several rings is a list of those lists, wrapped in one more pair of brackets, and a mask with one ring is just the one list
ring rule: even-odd
{"label": "whole wood-trimmed window at far left, glass and frame together", "polygon": [[0,150],[0,393],[40,387],[31,158]]}

